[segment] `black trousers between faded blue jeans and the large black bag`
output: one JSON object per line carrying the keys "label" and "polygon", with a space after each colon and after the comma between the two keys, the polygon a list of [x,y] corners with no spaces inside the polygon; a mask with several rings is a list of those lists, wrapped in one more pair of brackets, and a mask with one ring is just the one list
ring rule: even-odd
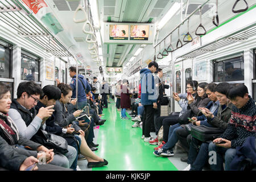
{"label": "black trousers between faded blue jeans and the large black bag", "polygon": [[181,125],[181,128],[176,130],[176,135],[180,140],[181,146],[185,151],[189,152],[189,146],[192,139],[191,134],[189,134],[187,129]]}

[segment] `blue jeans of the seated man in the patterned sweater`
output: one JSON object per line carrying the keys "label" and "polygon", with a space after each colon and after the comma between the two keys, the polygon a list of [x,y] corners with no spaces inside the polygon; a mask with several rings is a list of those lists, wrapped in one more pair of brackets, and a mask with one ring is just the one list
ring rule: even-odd
{"label": "blue jeans of the seated man in the patterned sweater", "polygon": [[[210,142],[209,144],[209,152],[215,151],[216,152],[216,164],[210,164],[210,168],[213,171],[223,171],[223,155],[225,155],[225,171],[230,171],[229,165],[234,159],[236,155],[235,148],[224,148],[218,147],[216,144]],[[210,153],[209,153],[210,154]],[[211,158],[211,156],[209,156]],[[213,155],[214,157],[214,155]]]}

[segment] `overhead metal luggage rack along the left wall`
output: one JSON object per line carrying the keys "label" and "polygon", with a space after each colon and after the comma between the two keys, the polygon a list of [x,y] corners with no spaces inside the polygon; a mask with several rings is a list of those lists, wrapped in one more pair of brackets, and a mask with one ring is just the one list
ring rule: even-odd
{"label": "overhead metal luggage rack along the left wall", "polygon": [[72,56],[67,48],[17,0],[0,0],[0,19],[19,36],[56,57]]}

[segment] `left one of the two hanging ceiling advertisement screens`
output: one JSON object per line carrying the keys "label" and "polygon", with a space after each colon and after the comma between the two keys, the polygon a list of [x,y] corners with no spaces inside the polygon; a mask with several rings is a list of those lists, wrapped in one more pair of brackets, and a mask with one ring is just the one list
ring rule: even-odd
{"label": "left one of the two hanging ceiling advertisement screens", "polygon": [[128,40],[129,26],[121,24],[110,24],[109,39],[110,40]]}

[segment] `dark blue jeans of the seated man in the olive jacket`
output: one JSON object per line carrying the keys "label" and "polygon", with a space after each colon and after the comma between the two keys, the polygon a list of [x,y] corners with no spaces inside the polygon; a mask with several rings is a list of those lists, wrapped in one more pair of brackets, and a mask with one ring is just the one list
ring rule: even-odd
{"label": "dark blue jeans of the seated man in the olive jacket", "polygon": [[191,171],[202,171],[205,163],[208,161],[208,147],[209,143],[201,142],[192,137],[187,162],[188,164],[191,164]]}

